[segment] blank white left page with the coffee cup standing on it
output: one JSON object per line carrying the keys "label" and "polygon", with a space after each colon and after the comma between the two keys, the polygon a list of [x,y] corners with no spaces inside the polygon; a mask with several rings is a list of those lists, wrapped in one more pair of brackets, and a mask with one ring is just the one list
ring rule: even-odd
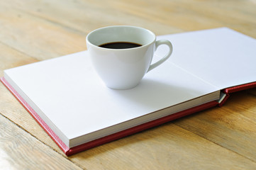
{"label": "blank white left page with the coffee cup standing on it", "polygon": [[50,128],[69,140],[218,91],[170,62],[152,69],[134,89],[108,89],[87,55],[77,52],[5,71]]}

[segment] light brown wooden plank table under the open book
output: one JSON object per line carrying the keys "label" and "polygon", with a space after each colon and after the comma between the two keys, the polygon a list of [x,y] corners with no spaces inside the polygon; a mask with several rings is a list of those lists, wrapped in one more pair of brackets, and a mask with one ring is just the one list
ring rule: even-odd
{"label": "light brown wooden plank table under the open book", "polygon": [[[4,69],[86,50],[87,33],[113,25],[156,35],[224,26],[256,38],[256,1],[0,1],[0,77]],[[0,169],[256,169],[255,140],[250,89],[221,108],[66,157],[0,84]]]}

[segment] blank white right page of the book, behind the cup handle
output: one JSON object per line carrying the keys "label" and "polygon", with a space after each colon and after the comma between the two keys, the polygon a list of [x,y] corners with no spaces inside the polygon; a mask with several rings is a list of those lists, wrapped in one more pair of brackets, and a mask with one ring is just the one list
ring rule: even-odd
{"label": "blank white right page of the book, behind the cup handle", "polygon": [[[230,28],[162,35],[170,40],[169,62],[204,79],[218,89],[247,84],[256,79],[256,40]],[[166,47],[157,51],[164,54]]]}

